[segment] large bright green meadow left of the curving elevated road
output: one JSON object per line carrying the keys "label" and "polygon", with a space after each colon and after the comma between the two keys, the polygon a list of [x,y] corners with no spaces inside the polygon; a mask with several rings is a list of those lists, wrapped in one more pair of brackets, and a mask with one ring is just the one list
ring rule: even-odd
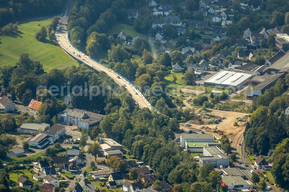
{"label": "large bright green meadow left of the curving elevated road", "polygon": [[19,61],[19,56],[22,53],[28,53],[30,59],[40,61],[45,71],[78,65],[60,46],[55,46],[48,37],[44,42],[35,39],[35,33],[42,26],[46,26],[49,23],[51,23],[51,20],[24,23],[19,25],[17,33],[1,37],[0,65],[8,64],[14,66]]}

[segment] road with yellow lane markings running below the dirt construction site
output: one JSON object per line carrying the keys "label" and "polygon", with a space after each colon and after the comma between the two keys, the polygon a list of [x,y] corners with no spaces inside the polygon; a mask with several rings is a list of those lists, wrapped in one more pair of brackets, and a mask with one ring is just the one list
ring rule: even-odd
{"label": "road with yellow lane markings running below the dirt construction site", "polygon": [[[238,152],[238,156],[239,156],[239,161],[242,162],[242,164],[237,163],[237,165],[239,166],[240,170],[242,170],[244,172],[244,174],[246,174],[246,177],[248,179],[251,179],[252,174],[250,171],[254,170],[254,165],[251,165],[252,164],[251,162],[248,163],[248,160],[246,158],[244,136],[242,136],[240,138],[239,143],[241,145],[237,146],[237,152]],[[244,163],[247,163],[249,165],[249,167],[246,167],[244,165]],[[262,178],[260,178],[260,179],[262,179]],[[275,192],[278,191],[277,189],[274,188],[273,185],[270,185],[268,182],[266,182],[266,186],[268,186],[268,185],[271,186],[272,189],[271,190],[266,189],[266,191],[275,191]]]}

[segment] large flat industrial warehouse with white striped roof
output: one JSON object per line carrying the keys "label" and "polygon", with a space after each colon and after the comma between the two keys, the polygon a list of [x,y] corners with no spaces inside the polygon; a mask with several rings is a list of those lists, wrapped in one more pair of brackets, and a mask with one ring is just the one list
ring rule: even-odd
{"label": "large flat industrial warehouse with white striped roof", "polygon": [[233,71],[220,71],[211,78],[204,81],[205,86],[233,86],[238,87],[246,84],[253,76],[246,73],[237,73]]}

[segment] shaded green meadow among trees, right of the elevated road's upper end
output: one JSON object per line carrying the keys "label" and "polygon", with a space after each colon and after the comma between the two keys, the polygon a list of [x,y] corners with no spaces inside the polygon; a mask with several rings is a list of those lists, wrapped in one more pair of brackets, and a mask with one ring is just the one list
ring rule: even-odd
{"label": "shaded green meadow among trees, right of the elevated road's upper end", "polygon": [[127,35],[131,37],[140,36],[144,39],[148,39],[147,34],[138,33],[133,25],[123,24],[123,23],[116,23],[113,25],[108,31],[106,32],[107,35],[112,35],[113,33],[120,33],[121,31],[125,32]]}

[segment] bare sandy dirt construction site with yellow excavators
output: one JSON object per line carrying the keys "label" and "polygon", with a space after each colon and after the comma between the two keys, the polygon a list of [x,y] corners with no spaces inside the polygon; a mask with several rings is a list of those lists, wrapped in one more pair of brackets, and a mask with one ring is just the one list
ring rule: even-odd
{"label": "bare sandy dirt construction site with yellow excavators", "polygon": [[[237,149],[238,142],[240,138],[243,135],[243,132],[246,127],[246,122],[238,122],[238,127],[233,125],[233,122],[236,120],[236,117],[243,117],[245,115],[249,115],[248,113],[240,113],[240,112],[232,112],[232,111],[222,111],[222,110],[216,110],[211,109],[211,114],[219,117],[225,116],[225,119],[221,123],[218,124],[211,124],[211,125],[194,125],[191,124],[191,127],[184,126],[184,124],[181,124],[181,128],[186,129],[200,129],[204,131],[205,133],[212,133],[213,129],[215,129],[217,125],[217,129],[224,132],[224,135],[227,135],[229,139],[233,141],[231,144],[233,151]],[[212,118],[211,118],[212,119]],[[204,127],[209,127],[210,130],[205,130]],[[216,138],[221,138],[221,135],[218,135],[217,133],[213,133]]]}

